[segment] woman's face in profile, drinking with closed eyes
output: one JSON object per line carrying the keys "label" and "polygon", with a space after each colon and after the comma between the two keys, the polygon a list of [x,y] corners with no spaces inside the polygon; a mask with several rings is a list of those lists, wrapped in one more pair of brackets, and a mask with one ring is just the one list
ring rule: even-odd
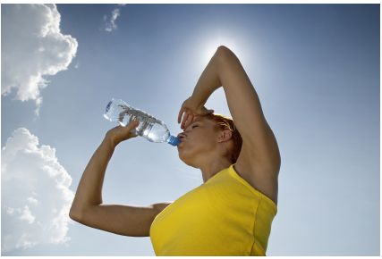
{"label": "woman's face in profile, drinking with closed eyes", "polygon": [[191,124],[178,135],[181,140],[177,146],[178,153],[184,163],[194,166],[198,159],[216,151],[218,131],[215,124],[215,121],[196,116]]}

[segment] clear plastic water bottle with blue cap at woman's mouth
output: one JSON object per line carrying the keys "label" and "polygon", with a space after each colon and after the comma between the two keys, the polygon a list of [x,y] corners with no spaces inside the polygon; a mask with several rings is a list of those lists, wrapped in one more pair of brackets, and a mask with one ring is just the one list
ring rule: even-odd
{"label": "clear plastic water bottle with blue cap at woman's mouth", "polygon": [[170,134],[170,130],[167,129],[165,122],[157,120],[157,118],[149,113],[133,108],[120,99],[113,98],[106,105],[104,117],[109,121],[118,121],[123,127],[134,119],[138,119],[140,124],[136,129],[133,129],[133,133],[147,138],[150,142],[167,142],[173,146],[177,146],[180,142],[179,138]]}

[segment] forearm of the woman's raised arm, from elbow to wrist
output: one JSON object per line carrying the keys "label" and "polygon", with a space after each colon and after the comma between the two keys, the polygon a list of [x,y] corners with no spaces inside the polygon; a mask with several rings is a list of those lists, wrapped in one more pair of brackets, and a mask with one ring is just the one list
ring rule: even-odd
{"label": "forearm of the woman's raised arm, from elbow to wrist", "polygon": [[222,86],[219,78],[219,52],[218,48],[204,71],[201,73],[193,90],[192,99],[200,105],[206,104],[208,97],[211,96],[217,88]]}

